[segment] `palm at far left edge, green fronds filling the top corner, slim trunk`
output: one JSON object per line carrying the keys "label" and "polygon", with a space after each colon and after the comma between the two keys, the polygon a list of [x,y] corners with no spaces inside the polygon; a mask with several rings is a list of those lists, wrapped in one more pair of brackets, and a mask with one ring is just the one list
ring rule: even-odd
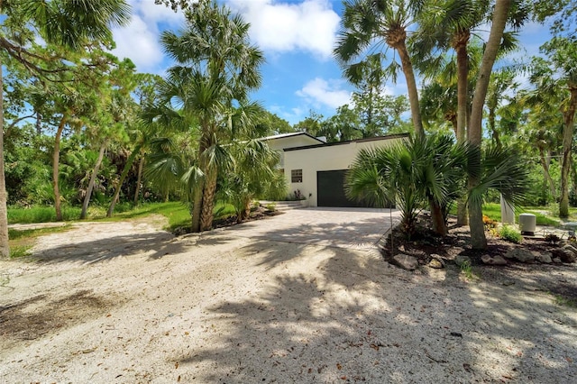
{"label": "palm at far left edge, green fronds filling the top corner, slim trunk", "polygon": [[[125,0],[85,0],[82,2],[27,0],[0,2],[0,13],[5,15],[0,29],[0,49],[31,70],[34,76],[43,77],[49,75],[41,69],[41,61],[44,59],[26,49],[29,41],[36,37],[34,32],[40,33],[41,38],[47,43],[80,50],[87,43],[112,41],[111,27],[128,23],[130,6]],[[14,36],[26,40],[12,39]],[[45,58],[46,61],[53,59],[53,57]],[[0,62],[0,88],[2,87],[2,63]],[[3,133],[4,100],[0,92],[0,257],[7,257],[10,250]]]}

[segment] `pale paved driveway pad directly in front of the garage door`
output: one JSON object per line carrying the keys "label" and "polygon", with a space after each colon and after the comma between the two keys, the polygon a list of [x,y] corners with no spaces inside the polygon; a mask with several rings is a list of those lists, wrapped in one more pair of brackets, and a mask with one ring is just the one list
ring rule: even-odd
{"label": "pale paved driveway pad directly in front of the garage door", "polygon": [[306,208],[216,230],[216,233],[276,242],[296,242],[351,249],[373,249],[400,222],[398,210]]}

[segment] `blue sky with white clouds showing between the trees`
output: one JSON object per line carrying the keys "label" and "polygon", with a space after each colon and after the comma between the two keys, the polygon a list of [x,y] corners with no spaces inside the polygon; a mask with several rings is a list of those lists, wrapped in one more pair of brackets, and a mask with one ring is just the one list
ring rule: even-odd
{"label": "blue sky with white clouds showing between the trees", "polygon": [[[251,23],[250,37],[264,52],[262,87],[252,94],[268,111],[291,124],[311,114],[329,117],[350,102],[354,88],[342,78],[332,51],[343,12],[341,0],[221,0]],[[121,59],[132,59],[139,72],[164,74],[173,63],[160,45],[160,32],[178,32],[184,27],[182,14],[175,14],[154,0],[129,0],[131,23],[114,30]],[[481,32],[482,33],[482,32]],[[549,38],[548,30],[527,23],[519,34],[527,58],[538,53]],[[522,80],[522,79],[521,79]],[[385,92],[407,94],[404,78],[389,82]]]}

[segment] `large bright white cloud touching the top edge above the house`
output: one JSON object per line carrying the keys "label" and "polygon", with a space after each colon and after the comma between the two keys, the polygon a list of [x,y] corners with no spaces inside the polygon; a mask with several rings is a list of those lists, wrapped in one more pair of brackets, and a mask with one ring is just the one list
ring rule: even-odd
{"label": "large bright white cloud touching the top edge above the house", "polygon": [[252,40],[262,50],[304,50],[320,59],[332,55],[340,17],[327,0],[230,0],[229,5],[251,23]]}

